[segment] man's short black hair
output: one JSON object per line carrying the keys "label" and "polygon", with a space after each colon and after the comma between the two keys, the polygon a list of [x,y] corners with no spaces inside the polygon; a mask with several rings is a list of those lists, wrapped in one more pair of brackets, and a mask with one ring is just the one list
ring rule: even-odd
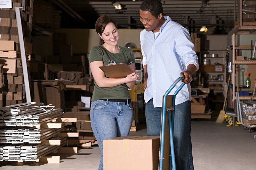
{"label": "man's short black hair", "polygon": [[156,18],[160,13],[164,15],[163,5],[159,0],[144,0],[140,5],[140,10],[148,11]]}

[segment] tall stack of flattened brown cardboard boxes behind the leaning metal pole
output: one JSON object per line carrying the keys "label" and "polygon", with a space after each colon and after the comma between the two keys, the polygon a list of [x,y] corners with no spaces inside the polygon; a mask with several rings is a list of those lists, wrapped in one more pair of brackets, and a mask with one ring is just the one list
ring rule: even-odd
{"label": "tall stack of flattened brown cardboard boxes behind the leaning metal pole", "polygon": [[[12,0],[12,8],[0,10],[0,64],[3,66],[3,82],[0,94],[0,107],[25,102],[25,88],[19,46],[15,7],[22,7],[22,0]],[[26,59],[32,53],[31,32],[34,0],[24,1],[20,12]],[[29,63],[27,62],[28,72]]]}

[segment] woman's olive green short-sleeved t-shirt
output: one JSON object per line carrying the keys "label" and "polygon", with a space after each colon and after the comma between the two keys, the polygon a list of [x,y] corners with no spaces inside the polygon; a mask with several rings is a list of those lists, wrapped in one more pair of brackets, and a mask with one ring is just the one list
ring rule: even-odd
{"label": "woman's olive green short-sleeved t-shirt", "polygon": [[[109,64],[109,60],[113,60],[116,64],[129,64],[131,61],[135,63],[134,53],[131,49],[121,47],[119,53],[111,53],[104,46],[94,46],[89,54],[89,63],[93,61],[103,61],[104,66]],[[105,74],[107,77],[107,75]],[[100,99],[131,99],[128,87],[126,84],[121,84],[114,87],[100,88],[94,81],[94,90],[92,92],[92,102]]]}

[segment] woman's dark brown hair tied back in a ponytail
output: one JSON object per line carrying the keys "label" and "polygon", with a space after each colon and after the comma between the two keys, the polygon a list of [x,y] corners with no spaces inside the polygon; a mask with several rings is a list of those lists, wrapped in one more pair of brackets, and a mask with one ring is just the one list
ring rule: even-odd
{"label": "woman's dark brown hair tied back in a ponytail", "polygon": [[[97,34],[102,35],[102,32],[104,32],[108,23],[113,23],[117,28],[117,24],[116,24],[116,21],[114,18],[112,18],[109,15],[100,16],[95,23],[95,29],[96,29]],[[104,44],[104,40],[102,38],[100,38],[100,45],[103,45],[103,44]]]}

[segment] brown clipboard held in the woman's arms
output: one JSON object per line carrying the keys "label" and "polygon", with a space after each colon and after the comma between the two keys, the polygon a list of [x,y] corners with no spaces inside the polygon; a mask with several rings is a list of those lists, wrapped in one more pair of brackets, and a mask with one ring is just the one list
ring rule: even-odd
{"label": "brown clipboard held in the woman's arms", "polygon": [[128,74],[132,74],[133,71],[125,63],[113,64],[108,66],[99,67],[109,78],[125,78]]}

